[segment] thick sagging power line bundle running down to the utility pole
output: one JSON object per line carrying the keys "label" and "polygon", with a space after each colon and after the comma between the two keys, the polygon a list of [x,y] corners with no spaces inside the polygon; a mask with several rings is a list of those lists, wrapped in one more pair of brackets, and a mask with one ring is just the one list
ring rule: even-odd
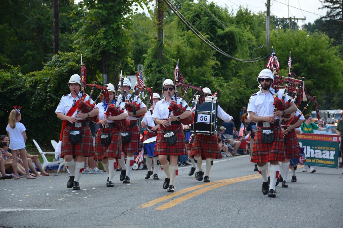
{"label": "thick sagging power line bundle running down to the utility pole", "polygon": [[250,60],[250,59],[240,59],[240,58],[235,58],[227,53],[225,53],[224,51],[222,51],[220,48],[218,48],[217,46],[215,46],[211,41],[209,41],[205,36],[203,36],[181,13],[180,11],[178,11],[178,9],[173,5],[173,3],[171,3],[169,0],[164,0],[164,2],[169,6],[169,8],[176,14],[176,16],[181,20],[182,23],[184,23],[197,37],[199,37],[204,43],[206,43],[207,45],[209,45],[212,49],[216,50],[217,52],[221,53],[222,55],[225,55],[227,57],[233,58],[237,61],[241,61],[241,62],[257,62],[260,61],[261,59],[264,59],[267,56],[264,56],[263,58],[255,58],[256,60]]}

